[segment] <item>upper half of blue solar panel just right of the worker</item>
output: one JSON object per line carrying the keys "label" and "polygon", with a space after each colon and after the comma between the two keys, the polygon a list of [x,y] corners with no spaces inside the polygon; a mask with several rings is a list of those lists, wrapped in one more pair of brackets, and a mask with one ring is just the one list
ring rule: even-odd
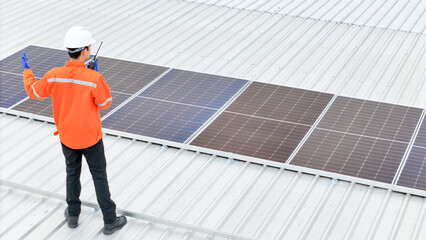
{"label": "upper half of blue solar panel just right of the worker", "polygon": [[139,96],[220,109],[246,80],[173,69]]}

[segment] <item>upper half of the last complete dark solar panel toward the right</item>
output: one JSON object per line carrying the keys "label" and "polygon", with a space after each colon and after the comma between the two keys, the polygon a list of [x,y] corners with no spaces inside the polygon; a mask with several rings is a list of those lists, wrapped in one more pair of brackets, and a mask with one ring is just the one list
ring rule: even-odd
{"label": "upper half of the last complete dark solar panel toward the right", "polygon": [[409,142],[421,113],[419,108],[337,97],[318,128]]}

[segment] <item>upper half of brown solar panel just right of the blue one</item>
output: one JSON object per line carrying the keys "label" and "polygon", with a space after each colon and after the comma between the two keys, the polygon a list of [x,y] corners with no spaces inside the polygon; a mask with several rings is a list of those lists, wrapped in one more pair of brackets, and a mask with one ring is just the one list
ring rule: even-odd
{"label": "upper half of brown solar panel just right of the blue one", "polygon": [[312,125],[333,95],[253,82],[228,112]]}

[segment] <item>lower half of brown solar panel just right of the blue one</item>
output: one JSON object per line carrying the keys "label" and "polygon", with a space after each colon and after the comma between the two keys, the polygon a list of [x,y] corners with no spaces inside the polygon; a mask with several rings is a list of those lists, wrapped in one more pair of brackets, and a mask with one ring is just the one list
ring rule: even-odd
{"label": "lower half of brown solar panel just right of the blue one", "polygon": [[191,144],[285,162],[309,128],[305,125],[224,112]]}

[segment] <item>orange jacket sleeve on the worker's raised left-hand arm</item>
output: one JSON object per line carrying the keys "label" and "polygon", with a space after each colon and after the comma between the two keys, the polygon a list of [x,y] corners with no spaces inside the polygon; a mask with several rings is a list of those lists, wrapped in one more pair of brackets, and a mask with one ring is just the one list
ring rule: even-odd
{"label": "orange jacket sleeve on the worker's raised left-hand arm", "polygon": [[51,87],[46,75],[40,81],[37,81],[31,69],[24,70],[25,91],[30,98],[43,100],[51,95]]}

